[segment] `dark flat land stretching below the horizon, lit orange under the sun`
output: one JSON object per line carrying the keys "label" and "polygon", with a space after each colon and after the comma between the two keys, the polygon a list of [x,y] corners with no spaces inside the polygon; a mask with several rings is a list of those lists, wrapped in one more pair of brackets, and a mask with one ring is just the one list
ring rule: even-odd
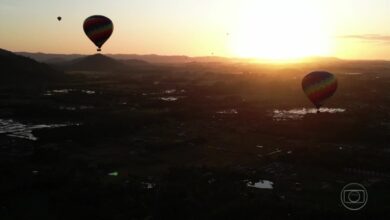
{"label": "dark flat land stretching below the horizon, lit orange under the sun", "polygon": [[[301,79],[318,69],[339,89],[316,114]],[[1,220],[390,217],[390,63],[66,74],[0,88]]]}

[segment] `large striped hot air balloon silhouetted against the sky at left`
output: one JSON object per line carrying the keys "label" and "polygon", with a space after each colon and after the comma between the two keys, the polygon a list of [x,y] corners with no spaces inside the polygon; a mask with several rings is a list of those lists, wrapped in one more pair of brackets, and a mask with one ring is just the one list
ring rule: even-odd
{"label": "large striped hot air balloon silhouetted against the sky at left", "polygon": [[97,51],[101,51],[101,47],[114,30],[112,21],[102,15],[88,17],[85,19],[83,27],[85,34],[98,47]]}

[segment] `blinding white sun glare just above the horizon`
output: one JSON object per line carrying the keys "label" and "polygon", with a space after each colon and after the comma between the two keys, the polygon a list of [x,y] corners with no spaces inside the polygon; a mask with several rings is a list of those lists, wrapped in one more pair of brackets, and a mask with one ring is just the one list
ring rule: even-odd
{"label": "blinding white sun glare just above the horizon", "polygon": [[230,45],[239,57],[290,60],[330,55],[329,36],[321,9],[311,1],[246,0]]}

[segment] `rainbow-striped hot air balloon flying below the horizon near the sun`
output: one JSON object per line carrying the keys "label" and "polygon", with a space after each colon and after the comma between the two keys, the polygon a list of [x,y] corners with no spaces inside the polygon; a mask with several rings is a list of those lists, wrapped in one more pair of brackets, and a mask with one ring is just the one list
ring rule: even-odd
{"label": "rainbow-striped hot air balloon flying below the horizon near the sun", "polygon": [[302,88],[310,101],[319,109],[337,90],[336,77],[325,71],[309,73],[302,80]]}

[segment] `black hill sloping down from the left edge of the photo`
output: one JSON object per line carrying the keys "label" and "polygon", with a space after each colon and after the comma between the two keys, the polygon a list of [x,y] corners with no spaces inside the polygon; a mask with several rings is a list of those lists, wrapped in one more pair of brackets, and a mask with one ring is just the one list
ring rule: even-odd
{"label": "black hill sloping down from the left edge of the photo", "polygon": [[0,84],[41,84],[65,76],[50,66],[0,49]]}

